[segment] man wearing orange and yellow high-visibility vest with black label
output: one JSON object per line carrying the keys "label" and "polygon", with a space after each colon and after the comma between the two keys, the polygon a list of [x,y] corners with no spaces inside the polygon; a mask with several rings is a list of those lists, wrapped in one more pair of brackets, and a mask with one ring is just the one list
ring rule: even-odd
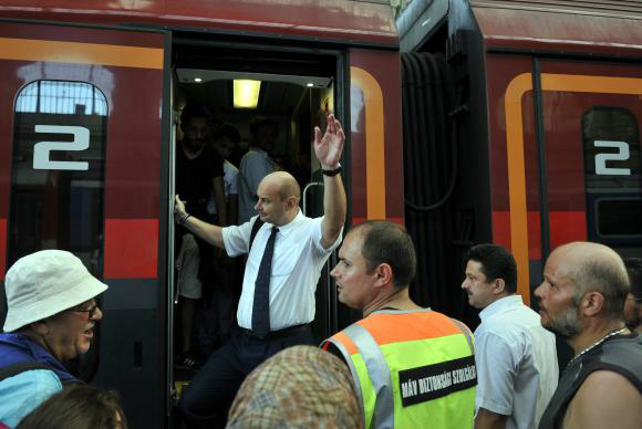
{"label": "man wearing orange and yellow high-visibility vest with black label", "polygon": [[473,334],[460,322],[422,308],[408,295],[416,255],[405,228],[360,223],[345,237],[331,272],[339,301],[364,318],[322,348],[348,364],[366,429],[473,427]]}

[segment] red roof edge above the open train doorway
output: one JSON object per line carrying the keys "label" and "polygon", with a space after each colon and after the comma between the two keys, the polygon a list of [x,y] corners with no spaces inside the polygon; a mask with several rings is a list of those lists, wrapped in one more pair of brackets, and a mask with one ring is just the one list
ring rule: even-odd
{"label": "red roof edge above the open train doorway", "polygon": [[7,0],[0,17],[398,44],[390,6],[351,0]]}

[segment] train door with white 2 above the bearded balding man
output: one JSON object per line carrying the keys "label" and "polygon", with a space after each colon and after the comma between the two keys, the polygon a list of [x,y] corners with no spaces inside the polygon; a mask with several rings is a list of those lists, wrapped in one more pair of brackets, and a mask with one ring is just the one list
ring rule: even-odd
{"label": "train door with white 2 above the bearded balding man", "polygon": [[642,255],[642,67],[552,60],[536,67],[542,243],[589,240]]}

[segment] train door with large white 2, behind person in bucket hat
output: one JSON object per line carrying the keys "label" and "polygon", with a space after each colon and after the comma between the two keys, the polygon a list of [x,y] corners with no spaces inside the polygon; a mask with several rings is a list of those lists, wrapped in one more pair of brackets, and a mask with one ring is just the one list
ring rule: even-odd
{"label": "train door with large white 2, behind person in bucket hat", "polygon": [[163,426],[165,399],[164,53],[158,32],[0,25],[0,282],[24,254],[63,249],[108,284],[74,366],[117,389],[138,428]]}

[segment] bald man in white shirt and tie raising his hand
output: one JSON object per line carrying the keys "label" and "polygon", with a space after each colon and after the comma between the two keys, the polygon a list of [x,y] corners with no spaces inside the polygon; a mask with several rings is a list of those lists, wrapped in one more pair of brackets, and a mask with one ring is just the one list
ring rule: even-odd
{"label": "bald man in white shirt and tie raising his hand", "polygon": [[[236,391],[255,367],[286,347],[314,344],[310,323],[314,318],[317,282],[341,242],[345,222],[345,191],[339,164],[344,142],[341,124],[333,115],[328,117],[323,135],[319,127],[314,129],[314,153],[324,185],[321,218],[303,216],[299,209],[301,189],[286,171],[272,172],[261,180],[255,206],[259,214],[239,227],[220,228],[196,219],[176,196],[174,214],[178,223],[225,249],[230,257],[248,253],[237,312],[239,327],[183,390],[180,409],[189,428],[225,427]],[[265,259],[271,259],[271,268],[263,266]],[[269,273],[269,280],[265,273]],[[261,302],[261,296],[268,304]]]}

